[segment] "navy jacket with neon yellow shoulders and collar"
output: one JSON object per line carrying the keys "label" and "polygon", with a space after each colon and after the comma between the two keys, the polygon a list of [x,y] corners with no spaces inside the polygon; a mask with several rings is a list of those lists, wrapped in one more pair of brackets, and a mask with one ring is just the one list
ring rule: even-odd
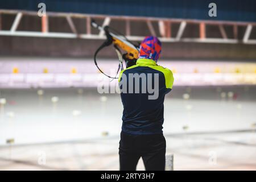
{"label": "navy jacket with neon yellow shoulders and collar", "polygon": [[[152,92],[148,92],[148,90],[146,93],[135,93],[136,81],[134,80],[135,78],[129,78],[129,73],[138,73],[137,75],[146,74],[146,84],[148,86],[148,82],[151,81],[152,88],[156,86],[156,80],[154,80],[155,77],[153,75],[158,73],[156,74],[158,75],[158,97],[156,99],[148,99],[148,96],[152,95]],[[148,76],[152,76],[152,78],[148,80],[150,78]],[[171,91],[174,83],[174,77],[170,69],[157,65],[154,60],[138,59],[136,65],[124,69],[120,73],[118,81],[121,91],[124,79],[127,80],[127,92],[121,92],[123,104],[122,131],[133,135],[163,133],[164,96]],[[129,82],[133,83],[132,93],[128,92]],[[139,79],[139,85],[142,86],[142,79]]]}

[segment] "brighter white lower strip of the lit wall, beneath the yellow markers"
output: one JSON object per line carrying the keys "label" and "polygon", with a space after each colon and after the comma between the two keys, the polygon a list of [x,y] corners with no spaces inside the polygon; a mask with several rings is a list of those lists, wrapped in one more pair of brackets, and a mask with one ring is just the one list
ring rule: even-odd
{"label": "brighter white lower strip of the lit wall, beneath the yellow markers", "polygon": [[[255,85],[255,73],[174,73],[175,85]],[[0,74],[0,88],[97,87],[99,73],[19,73]],[[117,80],[113,81],[117,85]]]}

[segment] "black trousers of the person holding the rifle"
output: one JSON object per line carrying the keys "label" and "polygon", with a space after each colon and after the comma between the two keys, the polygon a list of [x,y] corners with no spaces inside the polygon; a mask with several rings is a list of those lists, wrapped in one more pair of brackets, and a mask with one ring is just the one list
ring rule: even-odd
{"label": "black trousers of the person holding the rifle", "polygon": [[166,139],[163,134],[129,135],[121,132],[119,163],[121,171],[135,171],[142,157],[147,171],[164,171]]}

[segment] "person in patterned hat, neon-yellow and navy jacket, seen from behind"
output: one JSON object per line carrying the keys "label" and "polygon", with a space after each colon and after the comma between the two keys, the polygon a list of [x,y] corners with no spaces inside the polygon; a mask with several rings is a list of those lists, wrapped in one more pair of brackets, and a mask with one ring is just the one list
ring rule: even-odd
{"label": "person in patterned hat, neon-yellow and navy jacket, seen from behind", "polygon": [[123,124],[119,146],[121,170],[135,170],[142,156],[146,169],[164,169],[166,142],[163,137],[164,96],[172,89],[172,72],[156,64],[161,43],[143,40],[136,65],[119,75]]}

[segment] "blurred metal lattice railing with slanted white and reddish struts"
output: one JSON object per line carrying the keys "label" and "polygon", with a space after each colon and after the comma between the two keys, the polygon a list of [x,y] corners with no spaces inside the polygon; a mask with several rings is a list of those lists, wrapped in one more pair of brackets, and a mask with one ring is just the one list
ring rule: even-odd
{"label": "blurred metal lattice railing with slanted white and reddish struts", "polygon": [[[13,14],[15,15],[14,22],[10,30],[2,30],[1,15]],[[48,12],[45,16],[41,17],[41,31],[18,31],[17,28],[23,15],[38,16],[36,11],[22,11],[22,10],[1,10],[0,9],[0,36],[33,36],[33,37],[46,37],[46,38],[80,38],[80,39],[105,39],[104,32],[92,34],[90,27],[90,20],[97,18],[103,20],[103,26],[110,24],[112,20],[121,20],[125,22],[125,35],[130,40],[142,40],[144,36],[136,36],[131,34],[130,23],[134,21],[142,21],[147,24],[148,31],[151,35],[156,35],[155,27],[152,23],[158,24],[160,32],[160,40],[162,42],[197,42],[197,43],[243,43],[243,44],[256,44],[256,39],[249,39],[253,27],[256,22],[231,22],[231,21],[217,21],[217,20],[193,20],[193,19],[174,19],[174,18],[151,18],[141,16],[110,16],[110,15],[93,15],[93,14],[77,14],[77,13],[53,13]],[[67,19],[67,24],[71,28],[71,32],[49,32],[49,18],[60,17]],[[85,19],[86,31],[79,34],[73,18]],[[173,35],[172,24],[179,23],[179,28],[176,35]],[[188,24],[198,24],[199,37],[183,38],[183,33]],[[214,25],[218,27],[221,38],[210,38],[207,35],[207,26]],[[228,36],[228,32],[224,26],[232,26],[232,36]],[[238,39],[238,27],[246,27],[242,40]],[[230,32],[229,32],[230,34]],[[232,38],[228,38],[232,37]]]}

